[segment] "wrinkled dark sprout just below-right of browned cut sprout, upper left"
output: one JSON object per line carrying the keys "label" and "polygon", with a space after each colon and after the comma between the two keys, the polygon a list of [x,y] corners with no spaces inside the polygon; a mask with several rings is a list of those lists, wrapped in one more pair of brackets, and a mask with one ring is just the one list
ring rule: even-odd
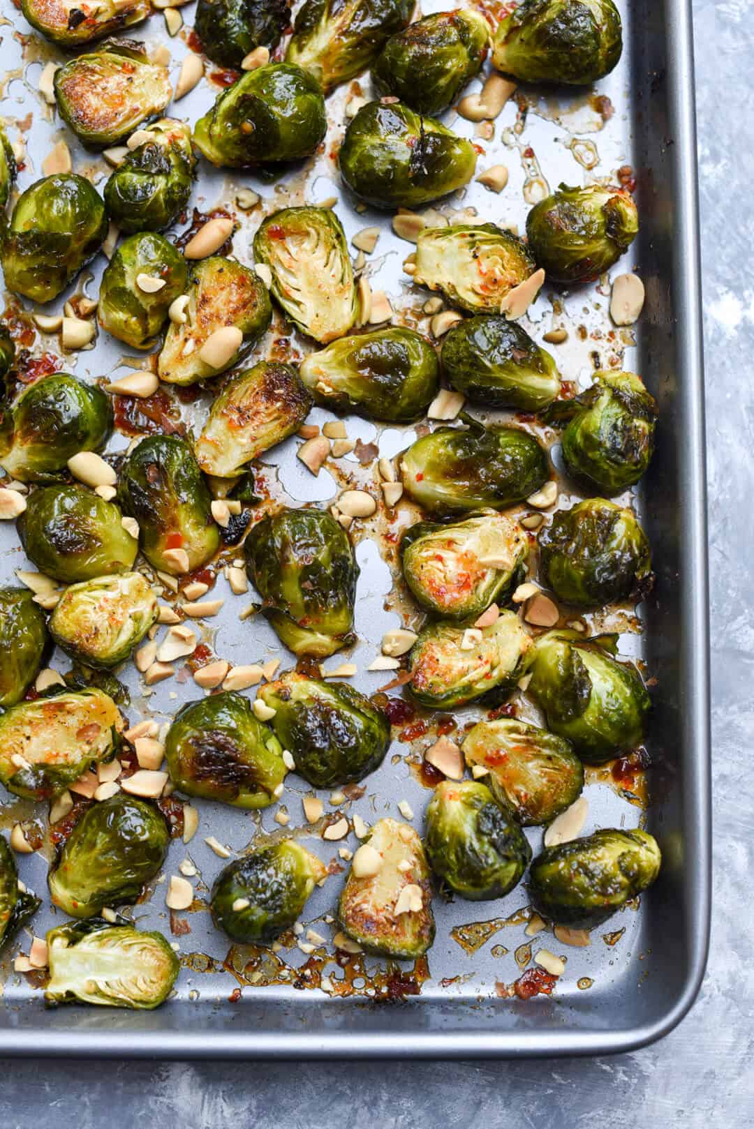
{"label": "wrinkled dark sprout just below-right of browned cut sprout, upper left", "polygon": [[125,235],[170,227],[188,204],[196,175],[188,125],[163,117],[144,132],[148,140],[128,151],[105,184],[107,215]]}

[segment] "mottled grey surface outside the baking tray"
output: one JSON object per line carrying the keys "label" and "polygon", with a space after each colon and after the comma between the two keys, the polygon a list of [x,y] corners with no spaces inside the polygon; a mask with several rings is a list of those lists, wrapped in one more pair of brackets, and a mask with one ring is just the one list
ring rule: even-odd
{"label": "mottled grey surface outside the baking tray", "polygon": [[[634,1054],[363,1066],[9,1062],[2,1129],[738,1129],[754,1121],[754,3],[694,3],[712,593],[716,905],[688,1017]],[[694,91],[688,91],[692,98]],[[682,327],[683,329],[683,327]]]}

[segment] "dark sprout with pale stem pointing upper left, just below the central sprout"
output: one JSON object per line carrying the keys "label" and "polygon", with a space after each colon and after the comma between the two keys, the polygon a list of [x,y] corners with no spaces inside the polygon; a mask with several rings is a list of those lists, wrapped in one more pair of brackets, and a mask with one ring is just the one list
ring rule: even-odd
{"label": "dark sprout with pale stem pointing upper left, just below the central sprout", "polygon": [[270,724],[292,753],[296,772],[315,788],[362,780],[388,751],[388,719],[345,682],[291,672],[265,686],[259,697],[276,710]]}

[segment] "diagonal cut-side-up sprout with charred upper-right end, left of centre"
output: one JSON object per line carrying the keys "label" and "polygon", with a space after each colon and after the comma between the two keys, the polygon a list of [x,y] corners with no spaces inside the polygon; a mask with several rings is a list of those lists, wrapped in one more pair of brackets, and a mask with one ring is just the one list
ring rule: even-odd
{"label": "diagonal cut-side-up sprout with charred upper-right end, left of centre", "polygon": [[207,474],[233,479],[246,463],[297,431],[312,397],[291,365],[260,360],[239,373],[213,401],[196,445]]}

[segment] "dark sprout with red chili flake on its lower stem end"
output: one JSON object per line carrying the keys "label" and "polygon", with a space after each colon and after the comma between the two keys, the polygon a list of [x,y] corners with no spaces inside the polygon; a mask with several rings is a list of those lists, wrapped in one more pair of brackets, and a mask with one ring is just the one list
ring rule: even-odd
{"label": "dark sprout with red chili flake on its lower stem end", "polygon": [[191,572],[219,548],[209,490],[185,439],[142,439],[123,463],[118,491],[123,509],[139,523],[144,555],[162,572],[187,571],[173,549],[184,550]]}

